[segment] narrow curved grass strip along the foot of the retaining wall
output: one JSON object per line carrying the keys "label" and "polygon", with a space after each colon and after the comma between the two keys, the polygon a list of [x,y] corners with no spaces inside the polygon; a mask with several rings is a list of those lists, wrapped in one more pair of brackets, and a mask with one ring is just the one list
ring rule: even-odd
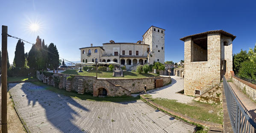
{"label": "narrow curved grass strip along the foot of the retaining wall", "polygon": [[46,90],[53,91],[55,93],[59,93],[62,95],[70,96],[72,98],[79,98],[82,100],[90,100],[90,101],[111,101],[111,102],[121,102],[121,101],[135,101],[140,99],[140,96],[138,95],[137,97],[132,97],[132,96],[119,96],[119,97],[105,97],[105,98],[100,98],[100,97],[93,97],[92,95],[80,95],[75,92],[67,92],[66,90],[58,89],[56,87],[41,83],[41,82],[31,82],[32,84],[44,87]]}

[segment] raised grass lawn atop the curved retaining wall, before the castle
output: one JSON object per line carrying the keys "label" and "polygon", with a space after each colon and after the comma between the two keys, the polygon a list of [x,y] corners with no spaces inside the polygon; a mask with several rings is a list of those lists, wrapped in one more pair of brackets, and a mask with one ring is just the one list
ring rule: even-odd
{"label": "raised grass lawn atop the curved retaining wall, before the castle", "polygon": [[[96,70],[91,70],[89,72],[82,70],[83,72],[77,72],[77,70],[66,70],[62,72],[63,74],[72,75],[83,75],[83,76],[96,76]],[[99,78],[147,78],[159,76],[155,73],[138,73],[138,72],[124,72],[124,77],[113,77],[113,72],[111,71],[98,71]]]}

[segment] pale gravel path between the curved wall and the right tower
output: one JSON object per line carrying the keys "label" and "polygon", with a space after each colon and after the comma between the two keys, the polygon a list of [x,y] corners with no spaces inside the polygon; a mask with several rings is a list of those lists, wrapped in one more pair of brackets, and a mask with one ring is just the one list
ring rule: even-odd
{"label": "pale gravel path between the curved wall and the right tower", "polygon": [[194,97],[178,94],[176,92],[184,90],[184,78],[171,76],[171,84],[154,90],[148,90],[147,93],[153,98],[174,99],[177,102],[189,103]]}

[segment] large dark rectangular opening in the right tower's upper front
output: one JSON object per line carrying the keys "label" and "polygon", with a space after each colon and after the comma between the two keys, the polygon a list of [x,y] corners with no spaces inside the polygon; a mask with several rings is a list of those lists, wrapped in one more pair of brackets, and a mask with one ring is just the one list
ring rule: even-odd
{"label": "large dark rectangular opening in the right tower's upper front", "polygon": [[207,36],[193,38],[191,42],[191,62],[207,61]]}

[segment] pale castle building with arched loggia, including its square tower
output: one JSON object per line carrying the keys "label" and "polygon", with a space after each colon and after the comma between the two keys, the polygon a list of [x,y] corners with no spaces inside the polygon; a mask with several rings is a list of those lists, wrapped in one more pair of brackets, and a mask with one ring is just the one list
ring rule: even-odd
{"label": "pale castle building with arched loggia, including its square tower", "polygon": [[110,40],[103,46],[80,48],[81,62],[115,61],[127,69],[138,64],[165,62],[165,29],[151,26],[137,43],[116,43]]}

